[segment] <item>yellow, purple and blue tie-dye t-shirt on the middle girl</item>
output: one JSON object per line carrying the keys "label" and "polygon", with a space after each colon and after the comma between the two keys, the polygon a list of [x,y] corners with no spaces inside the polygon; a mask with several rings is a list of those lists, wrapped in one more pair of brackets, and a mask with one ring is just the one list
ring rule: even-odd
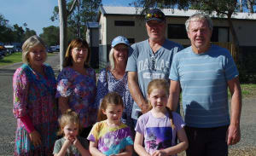
{"label": "yellow, purple and blue tie-dye t-shirt on the middle girl", "polygon": [[133,145],[131,130],[126,124],[113,128],[108,126],[107,120],[96,123],[87,139],[98,142],[98,150],[106,155],[122,153],[126,146]]}

